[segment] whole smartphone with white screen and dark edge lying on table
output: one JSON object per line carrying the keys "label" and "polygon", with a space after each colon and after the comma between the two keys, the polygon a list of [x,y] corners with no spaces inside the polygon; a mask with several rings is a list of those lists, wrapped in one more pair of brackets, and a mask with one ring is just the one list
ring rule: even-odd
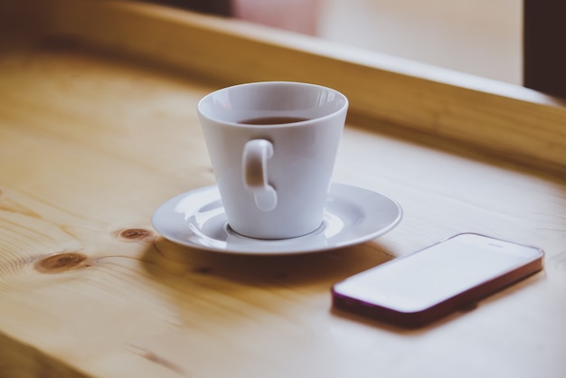
{"label": "whole smartphone with white screen and dark edge lying on table", "polygon": [[397,326],[425,326],[542,270],[543,255],[460,233],[336,283],[333,306]]}

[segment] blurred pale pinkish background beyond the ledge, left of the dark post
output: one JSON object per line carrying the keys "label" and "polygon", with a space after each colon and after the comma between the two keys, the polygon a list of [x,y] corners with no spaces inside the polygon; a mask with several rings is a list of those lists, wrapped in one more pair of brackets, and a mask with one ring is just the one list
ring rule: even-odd
{"label": "blurred pale pinkish background beyond the ledge, left of the dark post", "polygon": [[156,1],[523,82],[523,0]]}

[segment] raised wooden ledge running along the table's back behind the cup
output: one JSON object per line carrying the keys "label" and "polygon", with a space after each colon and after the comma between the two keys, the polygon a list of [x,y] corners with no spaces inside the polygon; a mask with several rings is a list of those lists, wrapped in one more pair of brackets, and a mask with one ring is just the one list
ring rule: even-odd
{"label": "raised wooden ledge running along the table's back behind the cup", "polygon": [[344,92],[354,115],[566,172],[566,101],[534,90],[160,5],[54,0],[35,10],[44,36],[79,38],[222,85],[316,82]]}

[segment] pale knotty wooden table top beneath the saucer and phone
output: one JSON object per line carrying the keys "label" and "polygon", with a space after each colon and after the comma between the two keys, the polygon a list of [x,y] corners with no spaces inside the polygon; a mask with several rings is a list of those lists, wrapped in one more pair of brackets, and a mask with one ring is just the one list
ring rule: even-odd
{"label": "pale knotty wooden table top beneath the saucer and phone", "polygon": [[[214,183],[196,75],[70,41],[0,43],[0,376],[562,377],[566,180],[375,120],[335,182],[404,218],[297,256],[166,241],[156,207]],[[420,330],[331,308],[333,283],[458,232],[535,245],[545,269]]]}

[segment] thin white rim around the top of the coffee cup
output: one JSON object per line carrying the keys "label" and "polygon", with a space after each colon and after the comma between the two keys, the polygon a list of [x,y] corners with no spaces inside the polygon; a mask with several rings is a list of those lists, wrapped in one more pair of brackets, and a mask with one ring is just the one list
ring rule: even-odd
{"label": "thin white rim around the top of the coffee cup", "polygon": [[335,111],[333,111],[332,113],[326,114],[325,116],[322,116],[322,117],[311,118],[311,119],[307,119],[307,120],[304,120],[304,121],[296,121],[296,122],[290,122],[290,123],[261,125],[261,128],[285,128],[285,127],[295,127],[295,126],[305,125],[305,124],[308,124],[308,123],[313,123],[314,121],[320,121],[320,120],[324,120],[325,118],[334,117],[336,114],[339,114],[339,113],[343,112],[344,110],[347,110],[348,106],[349,106],[348,98],[342,92],[335,90],[333,88],[325,87],[324,85],[319,85],[319,84],[314,84],[314,83],[309,83],[309,82],[303,82],[303,81],[285,81],[285,80],[251,81],[251,82],[231,85],[231,86],[224,87],[224,88],[221,88],[219,90],[214,90],[214,91],[208,93],[202,99],[200,99],[199,102],[197,103],[197,106],[196,106],[197,113],[199,114],[199,116],[201,116],[203,118],[207,118],[209,120],[212,120],[212,121],[217,122],[217,123],[221,123],[223,125],[230,125],[230,126],[239,127],[239,128],[257,128],[258,125],[244,124],[244,123],[241,123],[241,122],[229,121],[229,120],[225,120],[225,119],[222,119],[222,118],[212,117],[208,114],[204,114],[204,112],[202,111],[203,103],[205,101],[207,101],[208,99],[210,99],[211,97],[213,97],[214,95],[216,95],[216,94],[218,94],[222,91],[225,91],[225,90],[231,90],[231,89],[238,88],[238,87],[256,87],[256,86],[268,86],[268,85],[286,85],[286,86],[310,87],[310,88],[319,88],[319,89],[323,89],[323,90],[329,90],[329,91],[334,92],[336,95],[338,95],[338,97],[340,97],[340,99],[343,99],[344,103],[343,103],[342,107],[340,107],[339,109],[335,109]]}

